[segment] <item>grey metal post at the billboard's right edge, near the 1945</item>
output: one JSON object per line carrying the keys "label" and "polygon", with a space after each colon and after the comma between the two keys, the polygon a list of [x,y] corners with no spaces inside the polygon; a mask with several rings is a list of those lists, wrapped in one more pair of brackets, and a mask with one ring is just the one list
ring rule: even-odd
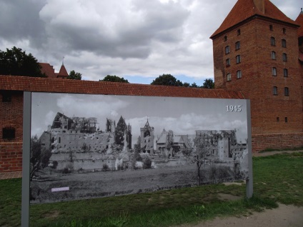
{"label": "grey metal post at the billboard's right edge, near the 1945", "polygon": [[248,148],[248,179],[246,181],[247,198],[252,198],[253,177],[252,177],[252,118],[250,114],[250,100],[247,100],[247,148]]}

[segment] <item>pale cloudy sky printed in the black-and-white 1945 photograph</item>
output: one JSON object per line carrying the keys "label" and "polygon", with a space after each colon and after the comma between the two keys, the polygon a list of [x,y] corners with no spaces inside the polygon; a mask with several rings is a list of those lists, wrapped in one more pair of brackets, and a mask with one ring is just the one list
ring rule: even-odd
{"label": "pale cloudy sky printed in the black-and-white 1945 photograph", "polygon": [[[241,106],[241,111],[227,111]],[[32,93],[31,136],[41,136],[59,112],[68,117],[95,117],[105,131],[106,118],[118,123],[122,116],[131,125],[132,143],[146,121],[154,127],[154,138],[163,129],[175,135],[194,135],[196,130],[237,129],[238,142],[247,138],[247,111],[244,99],[198,99],[154,96],[108,96],[87,94]]]}

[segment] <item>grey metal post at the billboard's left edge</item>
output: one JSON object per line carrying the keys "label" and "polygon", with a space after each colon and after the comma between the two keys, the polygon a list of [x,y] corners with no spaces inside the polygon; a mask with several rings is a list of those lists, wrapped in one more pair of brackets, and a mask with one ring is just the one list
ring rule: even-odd
{"label": "grey metal post at the billboard's left edge", "polygon": [[21,226],[29,226],[29,171],[31,149],[31,92],[23,94],[23,152]]}

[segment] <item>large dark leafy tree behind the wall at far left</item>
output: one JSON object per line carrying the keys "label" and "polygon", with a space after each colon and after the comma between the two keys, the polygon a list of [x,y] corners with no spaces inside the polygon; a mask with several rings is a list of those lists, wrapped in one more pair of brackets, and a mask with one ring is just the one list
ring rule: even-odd
{"label": "large dark leafy tree behind the wall at far left", "polygon": [[31,54],[14,46],[11,50],[0,50],[0,75],[47,77]]}

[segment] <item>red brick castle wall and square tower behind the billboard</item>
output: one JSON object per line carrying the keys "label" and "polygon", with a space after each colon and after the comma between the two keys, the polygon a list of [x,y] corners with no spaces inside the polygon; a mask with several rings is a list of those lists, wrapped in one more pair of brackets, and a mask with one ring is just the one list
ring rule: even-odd
{"label": "red brick castle wall and square tower behind the billboard", "polygon": [[292,21],[269,0],[238,0],[211,39],[212,90],[58,80],[65,67],[49,64],[48,79],[0,76],[0,172],[21,171],[23,91],[251,99],[254,152],[303,146],[303,12]]}

